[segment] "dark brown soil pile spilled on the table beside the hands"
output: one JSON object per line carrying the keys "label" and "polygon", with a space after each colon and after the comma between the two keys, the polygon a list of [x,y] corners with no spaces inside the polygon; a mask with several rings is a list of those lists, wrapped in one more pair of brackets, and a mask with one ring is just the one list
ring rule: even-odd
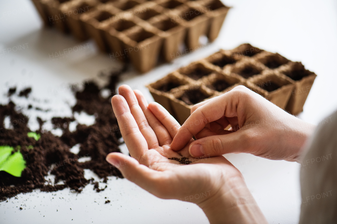
{"label": "dark brown soil pile spilled on the table beside the hands", "polygon": [[[124,69],[110,74],[110,81],[107,86],[115,92],[118,76]],[[14,92],[9,90],[9,93]],[[22,92],[22,93],[21,93]],[[28,96],[31,88],[21,91],[19,96]],[[54,136],[51,132],[43,132],[41,126],[44,123],[41,118],[37,118],[40,125],[36,133],[41,135],[38,141],[29,138],[27,133],[28,117],[16,111],[15,104],[9,102],[7,105],[0,105],[0,122],[4,123],[5,116],[9,116],[13,129],[0,129],[0,146],[9,145],[16,150],[20,150],[26,160],[26,168],[21,177],[14,177],[4,171],[0,171],[0,201],[6,200],[22,192],[31,192],[33,189],[41,191],[57,191],[69,187],[77,192],[91,183],[97,192],[104,190],[98,188],[98,182],[93,179],[84,178],[84,169],[90,169],[100,178],[104,178],[106,183],[108,176],[122,178],[121,173],[114,166],[105,161],[105,156],[110,152],[120,152],[119,141],[121,133],[117,119],[111,106],[111,98],[104,99],[100,96],[100,89],[93,82],[88,82],[83,91],[75,91],[77,103],[72,111],[84,111],[89,115],[95,115],[95,123],[90,126],[78,124],[74,132],[69,131],[69,123],[74,121],[73,117],[54,117],[52,123],[55,128],[61,128],[61,137]],[[8,94],[9,95],[9,94]],[[112,96],[111,96],[112,97]],[[17,121],[17,122],[15,122]],[[70,148],[75,144],[80,144],[78,154],[70,152]],[[28,146],[33,146],[29,147]],[[79,162],[81,157],[91,157],[90,161]],[[3,162],[3,161],[0,161]],[[55,183],[60,180],[64,184],[51,185],[45,181],[44,177],[48,173],[55,175]],[[106,186],[105,186],[106,187]]]}

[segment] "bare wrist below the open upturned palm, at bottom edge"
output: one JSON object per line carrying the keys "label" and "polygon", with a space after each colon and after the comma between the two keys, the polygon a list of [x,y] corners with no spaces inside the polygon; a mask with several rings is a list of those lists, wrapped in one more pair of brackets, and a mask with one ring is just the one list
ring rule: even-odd
{"label": "bare wrist below the open upturned palm, at bottom edge", "polygon": [[227,180],[212,197],[198,206],[211,224],[267,223],[242,177]]}

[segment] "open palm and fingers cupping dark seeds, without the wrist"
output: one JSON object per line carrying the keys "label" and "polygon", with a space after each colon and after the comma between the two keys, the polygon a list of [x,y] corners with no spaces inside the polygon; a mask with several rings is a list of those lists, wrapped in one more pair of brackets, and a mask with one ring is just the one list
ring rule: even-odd
{"label": "open palm and fingers cupping dark seeds, without the wrist", "polygon": [[[128,180],[160,198],[201,203],[219,193],[229,178],[241,178],[240,172],[223,156],[192,158],[188,145],[180,151],[170,148],[179,123],[159,104],[148,104],[139,90],[119,87],[112,106],[129,156],[111,153],[113,163]],[[190,157],[190,165],[171,157]],[[222,178],[226,176],[226,178]],[[199,195],[196,196],[196,195]],[[207,197],[204,195],[207,194]],[[201,196],[200,196],[201,195]]]}

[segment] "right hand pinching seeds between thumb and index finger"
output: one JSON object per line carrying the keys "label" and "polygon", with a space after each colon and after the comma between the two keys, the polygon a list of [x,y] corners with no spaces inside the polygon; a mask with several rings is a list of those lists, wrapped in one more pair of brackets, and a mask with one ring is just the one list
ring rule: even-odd
{"label": "right hand pinching seeds between thumb and index finger", "polygon": [[[229,130],[225,128],[231,125]],[[171,148],[189,142],[191,156],[244,152],[274,160],[298,161],[315,125],[288,114],[244,86],[194,105]]]}

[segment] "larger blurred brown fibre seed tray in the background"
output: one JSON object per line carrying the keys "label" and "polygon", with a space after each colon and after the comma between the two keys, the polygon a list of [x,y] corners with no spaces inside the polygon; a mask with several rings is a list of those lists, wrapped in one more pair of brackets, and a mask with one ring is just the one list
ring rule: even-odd
{"label": "larger blurred brown fibre seed tray in the background", "polygon": [[[229,7],[220,0],[32,0],[46,26],[95,40],[113,60],[141,73],[218,36]],[[180,49],[183,44],[186,50]]]}

